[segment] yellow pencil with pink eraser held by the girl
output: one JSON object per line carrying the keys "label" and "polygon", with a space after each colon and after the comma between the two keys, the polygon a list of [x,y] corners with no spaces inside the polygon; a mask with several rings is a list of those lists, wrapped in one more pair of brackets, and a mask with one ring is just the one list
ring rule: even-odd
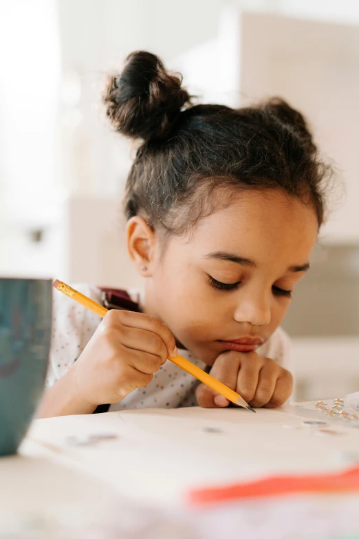
{"label": "yellow pencil with pink eraser held by the girl", "polygon": [[[60,292],[67,295],[68,297],[71,297],[71,299],[74,299],[76,302],[88,308],[101,318],[103,318],[106,313],[109,312],[107,308],[102,307],[102,305],[94,302],[93,299],[81,294],[77,290],[74,290],[74,288],[71,288],[71,286],[69,286],[68,284],[63,283],[58,279],[56,279],[56,281],[54,282],[54,288],[60,290]],[[184,357],[179,355],[176,357],[168,357],[168,359],[175,363],[175,365],[188,372],[188,374],[191,374],[192,376],[197,378],[197,380],[208,385],[208,388],[211,388],[223,397],[226,397],[228,401],[238,406],[243,406],[243,408],[247,408],[252,412],[255,412],[252,406],[247,404],[246,401],[242,399],[242,397],[237,392],[231,390],[230,388],[228,388],[227,385],[215,379],[213,376],[210,376],[210,374],[204,372],[204,370],[193,365],[191,361],[187,361],[187,359],[184,359]]]}

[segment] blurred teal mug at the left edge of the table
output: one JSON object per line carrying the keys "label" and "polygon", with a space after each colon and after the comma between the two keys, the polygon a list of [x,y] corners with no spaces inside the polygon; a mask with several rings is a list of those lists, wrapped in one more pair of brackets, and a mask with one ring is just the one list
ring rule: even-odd
{"label": "blurred teal mug at the left edge of the table", "polygon": [[0,456],[17,451],[41,399],[51,312],[50,279],[0,278]]}

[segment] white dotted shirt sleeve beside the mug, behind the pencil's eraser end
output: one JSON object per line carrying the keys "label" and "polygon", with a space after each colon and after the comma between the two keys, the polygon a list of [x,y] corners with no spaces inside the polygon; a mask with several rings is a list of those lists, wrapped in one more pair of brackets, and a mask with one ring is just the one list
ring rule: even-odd
{"label": "white dotted shirt sleeve beside the mug, behind the pencil's eraser end", "polygon": [[[100,302],[101,291],[99,288],[88,284],[75,284],[73,286],[79,292],[91,297],[96,302]],[[100,321],[98,315],[58,290],[54,290],[52,339],[46,388],[50,388],[78,359],[94,335]]]}

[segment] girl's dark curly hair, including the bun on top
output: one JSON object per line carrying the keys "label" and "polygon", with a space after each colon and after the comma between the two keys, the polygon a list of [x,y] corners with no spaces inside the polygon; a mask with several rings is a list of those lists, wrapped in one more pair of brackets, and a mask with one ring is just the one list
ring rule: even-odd
{"label": "girl's dark curly hair, including the bun on top", "polygon": [[133,52],[104,101],[116,131],[142,139],[127,178],[127,218],[181,234],[228,204],[234,189],[281,189],[323,223],[331,168],[305,118],[281,98],[239,109],[193,105],[181,76],[154,54]]}

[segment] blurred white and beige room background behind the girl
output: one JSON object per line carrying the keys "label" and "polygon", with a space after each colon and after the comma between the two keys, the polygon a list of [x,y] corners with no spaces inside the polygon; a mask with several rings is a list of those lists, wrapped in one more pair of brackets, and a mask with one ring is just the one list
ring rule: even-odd
{"label": "blurred white and beige room background behind the girl", "polygon": [[0,0],[0,275],[140,288],[120,206],[133,149],[101,105],[138,49],[205,101],[276,94],[308,116],[338,181],[283,324],[294,397],[359,390],[356,0]]}

